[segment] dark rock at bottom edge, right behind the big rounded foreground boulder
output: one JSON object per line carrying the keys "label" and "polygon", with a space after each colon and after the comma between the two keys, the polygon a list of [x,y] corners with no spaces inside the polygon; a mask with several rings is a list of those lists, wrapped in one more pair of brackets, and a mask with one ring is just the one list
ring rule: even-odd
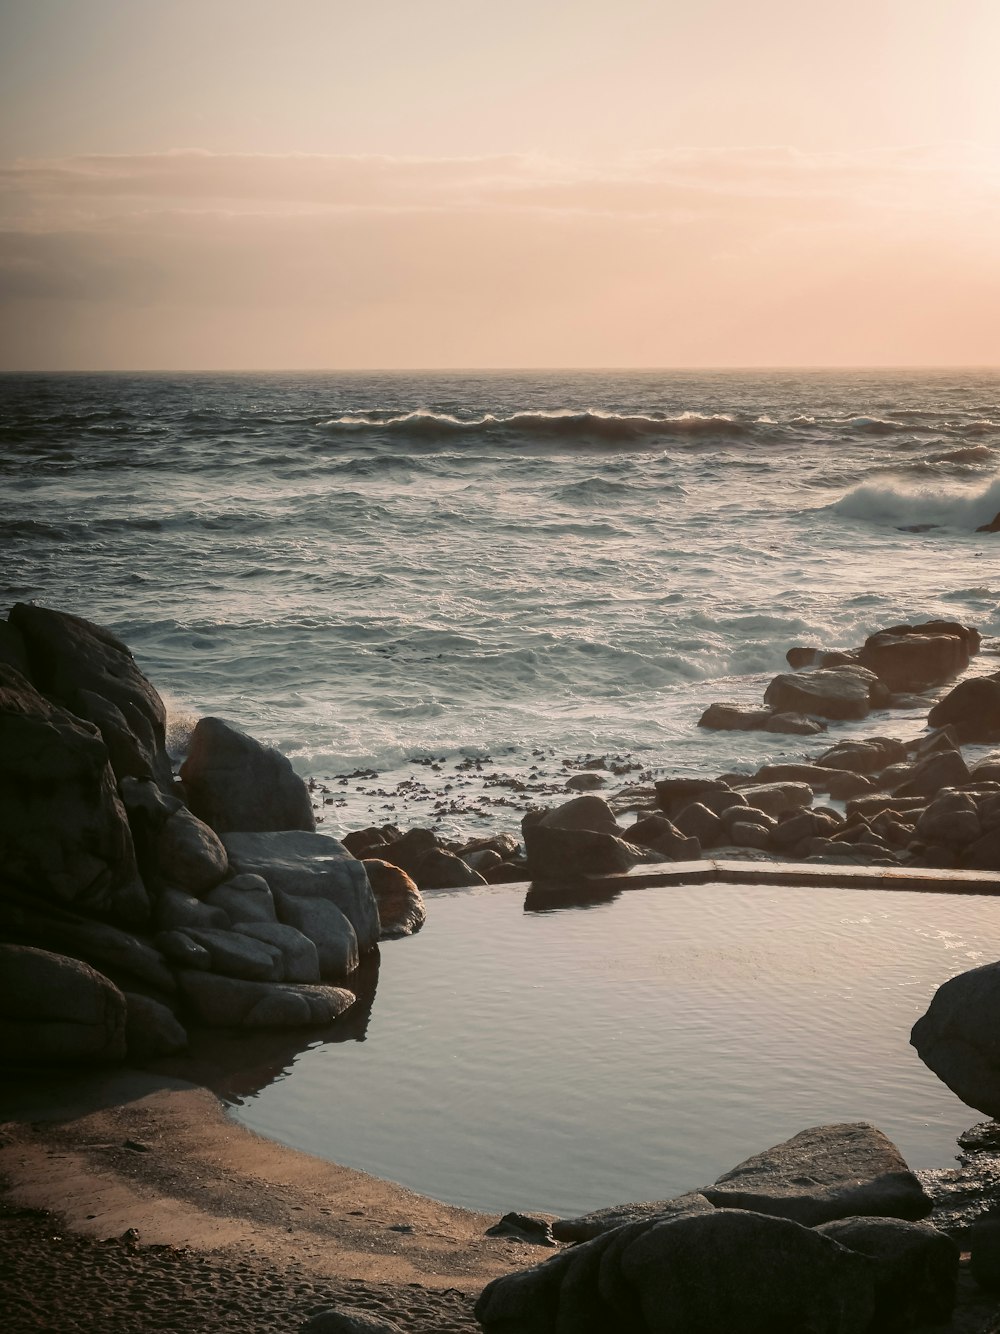
{"label": "dark rock at bottom edge, right behind the big rounded foreground boulder", "polygon": [[879,1334],[949,1323],[960,1258],[951,1237],[931,1223],[900,1218],[841,1218],[816,1231],[876,1261],[873,1329]]}

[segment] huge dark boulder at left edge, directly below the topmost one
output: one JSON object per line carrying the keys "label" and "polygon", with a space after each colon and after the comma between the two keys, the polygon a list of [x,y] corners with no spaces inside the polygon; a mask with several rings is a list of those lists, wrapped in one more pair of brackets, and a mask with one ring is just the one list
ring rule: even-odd
{"label": "huge dark boulder at left edge, directly below the topmost one", "polygon": [[128,922],[149,910],[100,732],[5,666],[0,884]]}

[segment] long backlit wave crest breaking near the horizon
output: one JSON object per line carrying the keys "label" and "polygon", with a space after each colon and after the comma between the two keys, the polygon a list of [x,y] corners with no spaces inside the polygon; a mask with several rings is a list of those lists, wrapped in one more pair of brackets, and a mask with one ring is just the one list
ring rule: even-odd
{"label": "long backlit wave crest breaking near the horizon", "polygon": [[456,436],[516,436],[539,440],[591,439],[628,443],[644,439],[677,439],[728,436],[741,439],[755,434],[753,424],[740,422],[725,412],[681,412],[677,416],[645,416],[588,410],[545,412],[513,412],[497,416],[492,412],[476,418],[457,418],[449,412],[419,410],[403,415],[380,412],[348,414],[317,423],[327,431],[339,434],[401,434],[417,438],[441,439]]}

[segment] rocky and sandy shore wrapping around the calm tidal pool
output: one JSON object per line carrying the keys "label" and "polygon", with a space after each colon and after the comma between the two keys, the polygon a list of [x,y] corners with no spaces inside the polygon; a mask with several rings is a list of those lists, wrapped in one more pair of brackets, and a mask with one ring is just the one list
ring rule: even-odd
{"label": "rocky and sandy shore wrapping around the calm tidal pool", "polygon": [[[891,627],[851,651],[795,648],[763,710],[720,703],[701,718],[705,727],[812,735],[872,710],[927,707],[928,730],[916,739],[831,738],[809,762],[625,783],[607,796],[597,795],[604,772],[583,767],[565,799],[525,810],[517,832],[448,840],[384,824],[335,838],[316,827],[327,794],[231,723],[200,719],[175,775],[163,702],[127,646],[81,618],[19,604],[0,622],[0,1031],[13,1086],[31,1089],[39,1077],[29,1071],[52,1069],[81,1071],[85,1085],[95,1067],[149,1066],[209,1030],[265,1042],[347,1019],[379,942],[423,924],[423,891],[531,882],[569,900],[588,878],[683,876],[705,856],[989,879],[1000,872],[1000,759],[969,764],[963,747],[1000,742],[1000,674],[955,683],[979,651],[975,630],[941,622]],[[616,776],[631,776],[619,767]],[[943,986],[913,1042],[964,1101],[1000,1117],[997,1034],[1000,963]],[[197,1266],[215,1278],[177,1310],[181,1323],[197,1318],[205,1329],[297,1329],[339,1298],[369,1311],[368,1322],[324,1317],[308,1326],[313,1334],[475,1321],[487,1334],[1000,1327],[989,1295],[1000,1285],[1000,1159],[989,1127],[963,1146],[959,1169],[927,1181],[873,1126],[811,1127],[681,1199],[609,1202],[580,1219],[513,1215],[485,1237],[492,1219],[365,1186],[371,1178],[332,1165],[321,1169],[331,1203],[313,1195],[316,1218],[304,1226],[292,1214],[308,1211],[303,1173],[317,1165],[289,1166],[301,1155],[225,1122],[223,1133],[217,1103],[192,1110],[197,1090],[175,1089],[171,1102],[163,1089],[140,1098],[119,1089],[111,1106],[81,1113],[59,1109],[71,1087],[83,1095],[79,1074],[63,1078],[48,1086],[52,1117],[28,1119],[8,1098],[0,1221],[15,1238],[4,1279],[16,1313],[9,1327],[76,1327],[68,1298],[47,1306],[39,1297],[68,1282],[73,1265],[100,1274],[95,1290],[119,1285],[121,1302],[132,1301],[121,1286],[132,1271],[141,1311],[105,1307],[100,1319],[112,1329],[180,1327],[169,1294],[189,1294]],[[217,1131],[209,1150],[195,1134],[199,1118]],[[227,1134],[243,1167],[220,1185]],[[149,1135],[159,1137],[152,1155]],[[277,1179],[268,1182],[261,1165],[275,1155],[297,1181],[284,1213],[264,1205]],[[84,1181],[75,1193],[63,1161]],[[119,1221],[139,1211],[156,1219],[156,1235],[175,1239],[149,1241],[148,1227],[132,1223],[108,1241],[113,1210],[80,1217],[80,1201],[105,1199],[109,1181],[124,1201]],[[68,1238],[35,1213],[59,1198]],[[352,1223],[376,1198],[377,1226],[371,1217]],[[176,1254],[171,1227],[180,1217],[197,1234],[199,1213],[231,1223],[203,1229],[197,1254]],[[248,1218],[267,1233],[253,1258]],[[47,1231],[59,1245],[43,1245]],[[59,1262],[64,1241],[68,1266]],[[539,1242],[556,1253],[524,1269]],[[169,1254],[153,1255],[155,1246]],[[251,1317],[256,1301],[269,1301],[261,1294],[289,1287],[291,1267],[309,1269],[309,1254],[340,1286],[303,1278],[283,1314]],[[457,1275],[452,1294],[441,1293],[448,1275]],[[471,1298],[487,1279],[473,1318]],[[381,1282],[391,1290],[376,1290]]]}

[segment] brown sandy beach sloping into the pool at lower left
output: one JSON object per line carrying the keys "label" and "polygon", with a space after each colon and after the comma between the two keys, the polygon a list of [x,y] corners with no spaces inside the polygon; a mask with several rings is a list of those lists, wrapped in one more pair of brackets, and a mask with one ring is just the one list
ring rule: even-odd
{"label": "brown sandy beach sloping into the pool at lower left", "polygon": [[335,1303],[415,1334],[477,1330],[481,1286],[548,1254],[261,1139],[180,1081],[32,1079],[0,1114],[5,1334],[293,1331]]}

